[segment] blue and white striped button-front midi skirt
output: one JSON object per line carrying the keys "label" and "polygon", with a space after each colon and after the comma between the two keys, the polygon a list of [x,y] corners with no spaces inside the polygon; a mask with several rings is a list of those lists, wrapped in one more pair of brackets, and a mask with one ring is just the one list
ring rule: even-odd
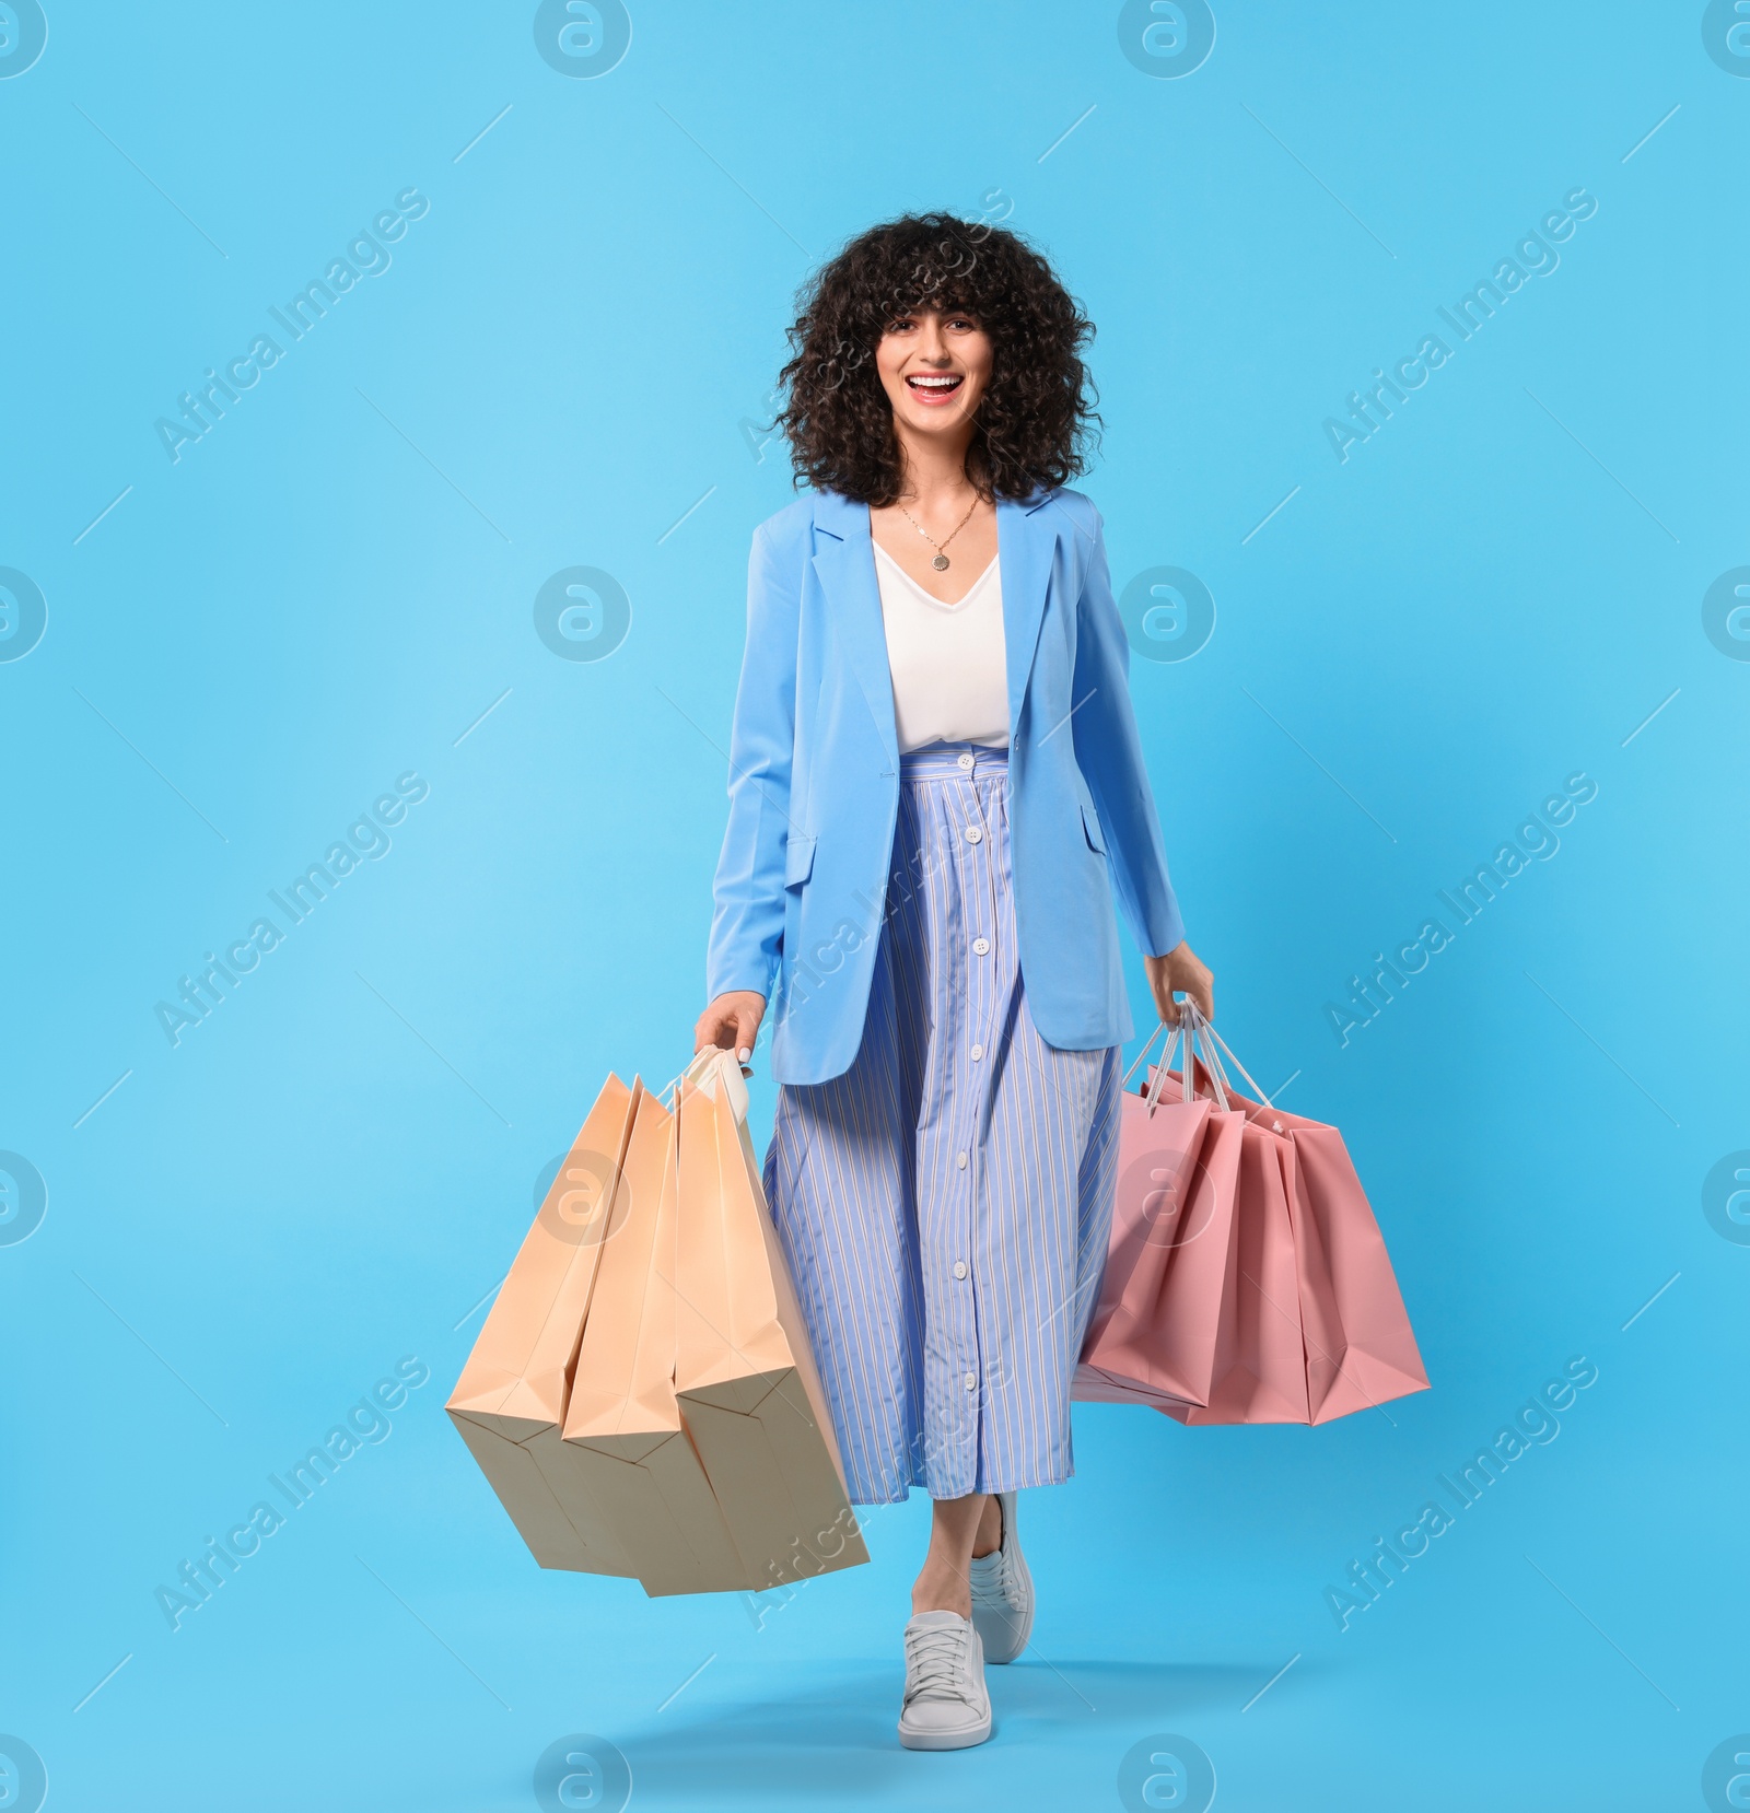
{"label": "blue and white striped button-front midi skirt", "polygon": [[861,1048],[780,1090],[765,1159],[852,1503],[1070,1476],[1117,1131],[1117,1048],[1026,1010],[1006,752],[903,756]]}

